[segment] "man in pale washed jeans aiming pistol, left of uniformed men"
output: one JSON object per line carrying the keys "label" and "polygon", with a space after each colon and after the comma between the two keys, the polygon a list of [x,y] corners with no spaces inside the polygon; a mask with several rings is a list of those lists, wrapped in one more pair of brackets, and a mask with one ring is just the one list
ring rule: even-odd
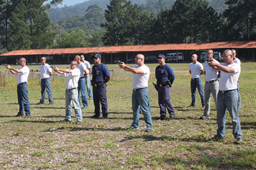
{"label": "man in pale washed jeans aiming pistol, left of uniformed men", "polygon": [[72,114],[72,102],[75,108],[75,114],[76,114],[76,124],[82,123],[82,112],[81,107],[79,105],[79,99],[78,99],[78,80],[80,77],[80,70],[77,68],[77,61],[71,61],[70,68],[71,69],[60,69],[55,67],[54,71],[58,72],[59,74],[62,74],[66,77],[66,92],[65,92],[65,98],[66,98],[66,117],[63,120],[60,120],[60,122],[71,122],[71,114]]}

